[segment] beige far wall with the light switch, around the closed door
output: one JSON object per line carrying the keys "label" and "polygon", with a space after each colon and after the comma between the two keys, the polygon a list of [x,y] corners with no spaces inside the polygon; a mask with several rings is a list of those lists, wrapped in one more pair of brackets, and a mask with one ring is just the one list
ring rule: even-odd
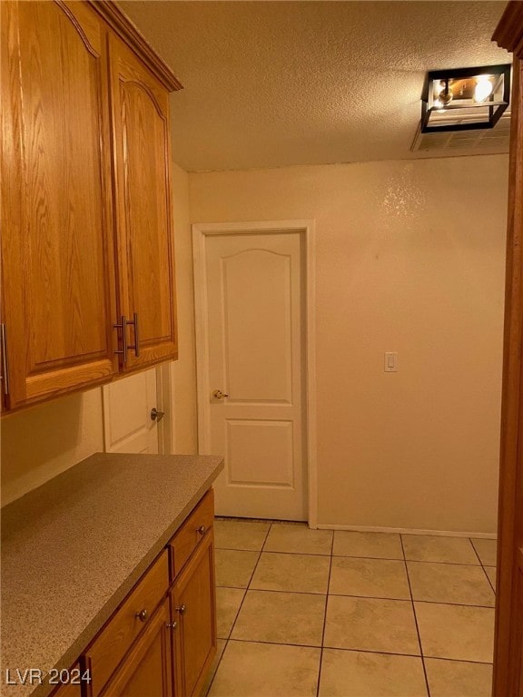
{"label": "beige far wall with the light switch, around the closed door", "polygon": [[316,221],[320,524],[495,532],[507,172],[190,175],[193,222]]}

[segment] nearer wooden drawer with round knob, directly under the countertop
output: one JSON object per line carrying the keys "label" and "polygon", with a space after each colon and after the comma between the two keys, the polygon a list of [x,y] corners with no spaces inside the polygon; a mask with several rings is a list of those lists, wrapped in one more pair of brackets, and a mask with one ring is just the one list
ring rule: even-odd
{"label": "nearer wooden drawer with round knob, directly under the countertop", "polygon": [[[132,593],[123,601],[113,618],[85,652],[85,666],[91,669],[92,695],[100,694],[113,671],[122,661],[134,639],[147,626],[154,609],[162,601],[169,585],[167,550],[143,574]],[[143,619],[138,615],[143,613]]]}

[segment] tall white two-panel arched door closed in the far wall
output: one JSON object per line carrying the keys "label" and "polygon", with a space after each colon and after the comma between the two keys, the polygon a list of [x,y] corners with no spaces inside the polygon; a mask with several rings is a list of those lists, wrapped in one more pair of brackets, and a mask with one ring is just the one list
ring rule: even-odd
{"label": "tall white two-panel arched door closed in the far wall", "polygon": [[210,452],[225,456],[219,515],[307,518],[303,258],[299,232],[205,238]]}

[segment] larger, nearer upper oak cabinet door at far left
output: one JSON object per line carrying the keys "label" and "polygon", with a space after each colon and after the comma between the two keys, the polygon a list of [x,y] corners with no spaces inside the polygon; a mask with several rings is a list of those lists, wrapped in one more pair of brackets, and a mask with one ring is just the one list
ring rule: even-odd
{"label": "larger, nearer upper oak cabinet door at far left", "polygon": [[79,2],[2,19],[2,256],[8,406],[118,369],[106,30]]}

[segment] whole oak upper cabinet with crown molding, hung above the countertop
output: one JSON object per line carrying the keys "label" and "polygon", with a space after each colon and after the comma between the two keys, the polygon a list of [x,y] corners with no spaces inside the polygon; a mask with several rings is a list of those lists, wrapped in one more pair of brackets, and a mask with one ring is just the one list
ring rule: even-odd
{"label": "whole oak upper cabinet with crown molding, hung above the countertop", "polygon": [[13,409],[177,358],[169,93],[182,85],[113,2],[0,7],[0,402]]}

